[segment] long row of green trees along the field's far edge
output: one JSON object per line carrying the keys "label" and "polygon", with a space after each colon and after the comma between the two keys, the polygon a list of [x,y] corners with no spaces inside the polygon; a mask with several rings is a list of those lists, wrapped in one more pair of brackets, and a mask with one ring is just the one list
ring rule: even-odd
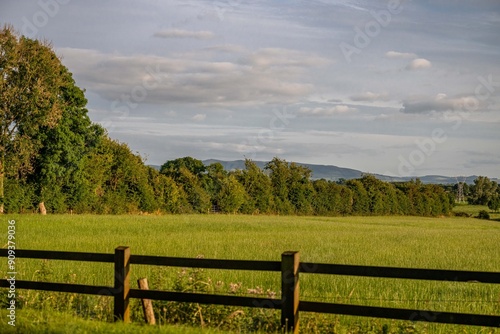
{"label": "long row of green trees along the field's far edge", "polygon": [[1,212],[430,216],[454,203],[453,189],[371,175],[312,180],[279,158],[226,171],[185,157],[156,170],[92,123],[86,104],[50,44],[0,30]]}

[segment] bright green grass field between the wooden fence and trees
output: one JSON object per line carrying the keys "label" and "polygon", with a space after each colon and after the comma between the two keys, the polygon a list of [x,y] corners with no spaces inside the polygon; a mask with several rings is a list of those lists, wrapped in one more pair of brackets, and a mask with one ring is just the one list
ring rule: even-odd
{"label": "bright green grass field between the wooden fence and trees", "polygon": [[[474,213],[481,208],[458,207]],[[308,262],[500,271],[499,215],[490,221],[474,218],[422,217],[283,217],[243,215],[87,216],[19,215],[4,217],[0,235],[7,240],[7,220],[16,220],[19,249],[114,252],[120,245],[133,254],[224,259],[279,260],[287,250],[300,251]],[[111,264],[18,259],[17,279],[112,285]],[[133,266],[132,279],[161,277],[171,287],[179,268]],[[6,261],[0,272],[6,271]],[[204,278],[219,291],[241,283],[247,289],[279,292],[279,273],[205,270]],[[3,276],[3,275],[2,275]],[[159,280],[158,280],[159,282]],[[151,283],[150,283],[151,285]],[[215,285],[215,283],[214,283]],[[158,288],[152,286],[151,288]],[[37,292],[24,293],[26,307],[43,302]],[[50,296],[45,298],[51,298]],[[92,318],[108,319],[110,301],[96,303]],[[301,275],[301,299],[348,302],[480,314],[500,314],[500,286],[455,282]],[[68,303],[76,300],[61,299]],[[99,315],[99,312],[102,313]],[[272,312],[272,311],[270,311]],[[493,328],[433,325],[384,319],[303,314],[303,324],[332,324],[338,333],[494,333]],[[309,318],[311,322],[308,322]],[[315,318],[316,317],[316,318]],[[136,321],[140,321],[137,319]],[[385,326],[385,327],[384,327]],[[311,325],[311,331],[318,331]]]}

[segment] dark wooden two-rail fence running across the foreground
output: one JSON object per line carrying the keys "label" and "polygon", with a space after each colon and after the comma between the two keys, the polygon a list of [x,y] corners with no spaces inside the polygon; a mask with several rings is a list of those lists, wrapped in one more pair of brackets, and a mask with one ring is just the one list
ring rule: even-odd
{"label": "dark wooden two-rail fence running across the foreground", "polygon": [[[0,257],[7,256],[7,249],[0,249]],[[299,273],[453,282],[474,281],[492,284],[500,284],[500,273],[308,263],[300,262],[298,252],[283,253],[281,255],[281,261],[217,260],[131,255],[130,248],[123,246],[117,247],[114,254],[16,250],[15,256],[16,258],[114,263],[114,286],[112,287],[16,280],[15,288],[112,296],[114,298],[115,319],[125,322],[130,321],[130,298],[141,298],[280,309],[281,325],[287,332],[290,331],[293,333],[297,333],[299,329],[299,311],[500,327],[500,316],[494,315],[436,312],[299,300]],[[131,264],[281,272],[281,299],[132,289],[130,288]],[[10,287],[10,282],[7,279],[1,279],[0,287],[8,288]]]}

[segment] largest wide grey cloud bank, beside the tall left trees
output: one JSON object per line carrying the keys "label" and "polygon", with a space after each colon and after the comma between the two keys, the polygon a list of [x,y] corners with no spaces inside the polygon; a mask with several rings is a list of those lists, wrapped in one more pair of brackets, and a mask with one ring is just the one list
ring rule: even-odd
{"label": "largest wide grey cloud bank, beside the tall left trees", "polygon": [[309,70],[326,62],[288,49],[257,49],[224,61],[74,48],[60,48],[58,53],[89,92],[127,109],[139,103],[226,107],[295,103],[313,91]]}

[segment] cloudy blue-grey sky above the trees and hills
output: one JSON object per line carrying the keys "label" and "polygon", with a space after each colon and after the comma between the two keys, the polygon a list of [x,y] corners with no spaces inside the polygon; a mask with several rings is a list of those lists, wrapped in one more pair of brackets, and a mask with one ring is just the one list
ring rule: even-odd
{"label": "cloudy blue-grey sky above the trees and hills", "polygon": [[498,0],[2,0],[5,23],[147,164],[500,177]]}

